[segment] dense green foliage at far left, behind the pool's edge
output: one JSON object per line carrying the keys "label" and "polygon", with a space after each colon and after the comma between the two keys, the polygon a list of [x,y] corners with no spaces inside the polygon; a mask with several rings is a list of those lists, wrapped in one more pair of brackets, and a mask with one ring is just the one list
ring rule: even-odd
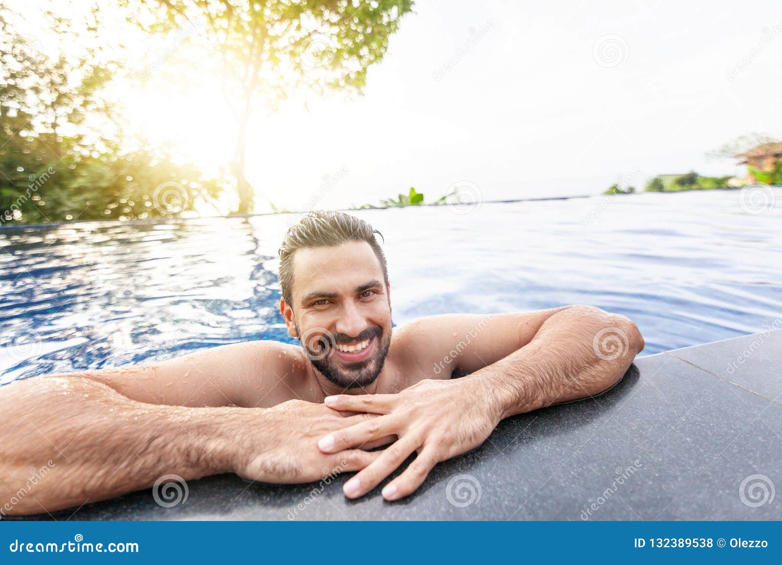
{"label": "dense green foliage at far left, behind the pool's edge", "polygon": [[169,216],[217,197],[223,184],[124,134],[103,96],[119,65],[100,13],[44,16],[68,51],[44,52],[0,6],[0,222]]}

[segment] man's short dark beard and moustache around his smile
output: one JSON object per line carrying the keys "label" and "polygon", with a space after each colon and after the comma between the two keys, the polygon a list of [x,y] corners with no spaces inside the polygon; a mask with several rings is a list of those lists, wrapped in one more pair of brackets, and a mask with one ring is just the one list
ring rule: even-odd
{"label": "man's short dark beard and moustache around his smile", "polygon": [[[391,345],[391,334],[387,336],[383,335],[382,328],[379,326],[368,327],[362,331],[356,337],[350,337],[345,334],[333,335],[333,341],[326,345],[328,348],[333,348],[334,343],[349,343],[349,342],[363,342],[366,339],[378,338],[378,352],[375,356],[369,359],[364,359],[357,363],[347,363],[346,365],[338,365],[335,361],[332,361],[333,350],[325,352],[323,349],[316,351],[310,351],[307,349],[307,344],[302,342],[301,332],[296,327],[296,334],[299,335],[299,342],[301,343],[304,352],[307,353],[307,358],[310,359],[310,363],[320,374],[322,374],[327,381],[336,384],[339,388],[363,388],[375,382],[383,368],[383,364],[386,363],[386,356],[389,352]],[[323,342],[319,342],[317,345],[323,346]],[[346,369],[343,369],[346,367]]]}

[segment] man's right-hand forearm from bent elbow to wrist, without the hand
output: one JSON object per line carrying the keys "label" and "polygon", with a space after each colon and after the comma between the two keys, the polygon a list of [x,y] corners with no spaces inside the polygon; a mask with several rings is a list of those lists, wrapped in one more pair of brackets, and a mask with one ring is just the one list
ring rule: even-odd
{"label": "man's right-hand forearm from bent elbow to wrist, without the hand", "polygon": [[503,419],[603,392],[643,348],[625,316],[573,306],[546,320],[522,349],[465,378],[494,399]]}

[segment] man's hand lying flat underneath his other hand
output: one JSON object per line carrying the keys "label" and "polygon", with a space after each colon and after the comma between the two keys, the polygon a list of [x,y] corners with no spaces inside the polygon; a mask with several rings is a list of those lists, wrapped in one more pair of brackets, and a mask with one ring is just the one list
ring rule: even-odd
{"label": "man's hand lying flat underneath his other hand", "polygon": [[339,412],[323,404],[289,400],[267,409],[263,420],[236,429],[229,459],[241,477],[266,483],[305,483],[332,474],[364,469],[381,452],[335,449],[324,455],[317,438],[375,418],[374,414]]}

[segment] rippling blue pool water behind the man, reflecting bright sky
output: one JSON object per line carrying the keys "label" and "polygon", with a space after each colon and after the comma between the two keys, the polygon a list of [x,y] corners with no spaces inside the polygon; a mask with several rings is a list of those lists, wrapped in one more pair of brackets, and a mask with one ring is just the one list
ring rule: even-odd
{"label": "rippling blue pool water behind the man, reflecting bright sky", "polygon": [[[694,191],[357,215],[386,238],[395,324],[586,303],[636,320],[647,355],[782,315],[774,190],[763,213],[742,209],[740,191]],[[291,341],[277,249],[297,219],[0,230],[0,382]]]}

